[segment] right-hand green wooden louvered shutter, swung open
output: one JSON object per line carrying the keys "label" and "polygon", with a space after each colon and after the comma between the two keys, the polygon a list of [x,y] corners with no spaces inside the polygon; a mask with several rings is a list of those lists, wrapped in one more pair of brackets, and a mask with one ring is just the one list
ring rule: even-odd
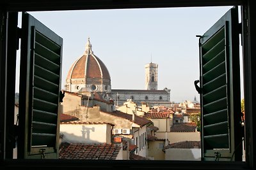
{"label": "right-hand green wooden louvered shutter, swung open", "polygon": [[237,13],[231,8],[200,38],[202,160],[241,160]]}

